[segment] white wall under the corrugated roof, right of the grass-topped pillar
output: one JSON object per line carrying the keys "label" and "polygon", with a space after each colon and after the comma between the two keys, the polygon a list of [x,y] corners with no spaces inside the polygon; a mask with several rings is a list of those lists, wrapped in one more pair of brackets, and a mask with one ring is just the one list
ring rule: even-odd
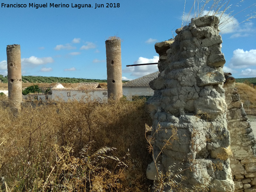
{"label": "white wall under the corrugated roof, right of the grass-topped pillar", "polygon": [[127,100],[132,100],[132,96],[152,96],[154,90],[149,87],[123,87],[123,95]]}

